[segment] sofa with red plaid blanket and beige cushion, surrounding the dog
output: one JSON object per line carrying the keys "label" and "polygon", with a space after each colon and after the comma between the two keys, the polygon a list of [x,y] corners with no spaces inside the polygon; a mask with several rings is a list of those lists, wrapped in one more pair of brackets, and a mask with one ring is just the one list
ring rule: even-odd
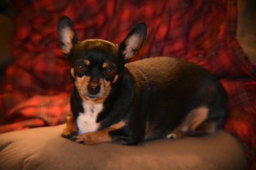
{"label": "sofa with red plaid blanket and beige cushion, surrounding the dog", "polygon": [[[0,48],[0,169],[255,169],[253,5],[236,0],[6,1],[0,8],[6,26],[0,28],[5,38],[0,44],[7,46]],[[215,74],[228,94],[222,129],[136,146],[86,146],[61,138],[72,89],[56,34],[62,15],[74,21],[79,39],[115,43],[132,25],[146,22],[147,41],[133,60],[179,57]]]}

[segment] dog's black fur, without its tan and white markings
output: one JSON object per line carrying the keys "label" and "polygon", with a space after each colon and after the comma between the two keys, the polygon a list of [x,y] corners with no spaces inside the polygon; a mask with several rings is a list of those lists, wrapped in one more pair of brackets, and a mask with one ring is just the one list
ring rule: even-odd
{"label": "dog's black fur, without its tan and white markings", "polygon": [[[70,19],[63,17],[58,29],[69,26],[74,31]],[[138,24],[119,46],[93,39],[89,43],[72,38],[74,47],[67,54],[70,66],[86,59],[90,61],[86,71],[76,77],[90,76],[112,82],[115,76],[104,74],[102,64],[113,64],[118,80],[111,84],[111,91],[104,101],[104,109],[99,113],[99,131],[120,121],[126,124],[121,129],[109,132],[113,142],[133,145],[144,139],[165,138],[177,128],[188,113],[198,106],[207,106],[209,115],[204,122],[216,122],[220,129],[227,111],[227,95],[215,76],[196,64],[173,57],[154,57],[125,64],[124,50],[127,39],[138,34],[140,43],[132,48],[135,53],[145,41],[147,27]],[[63,38],[59,34],[60,41]],[[63,43],[61,43],[63,44]],[[73,78],[74,82],[76,78]],[[83,99],[74,87],[71,110],[75,118],[86,110]],[[150,138],[145,138],[146,126]]]}

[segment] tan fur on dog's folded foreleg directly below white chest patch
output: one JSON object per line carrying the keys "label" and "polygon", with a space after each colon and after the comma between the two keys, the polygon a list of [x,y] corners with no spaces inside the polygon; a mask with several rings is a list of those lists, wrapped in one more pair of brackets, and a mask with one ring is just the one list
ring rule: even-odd
{"label": "tan fur on dog's folded foreleg directly below white chest patch", "polygon": [[99,143],[112,142],[111,136],[109,136],[110,131],[115,131],[124,127],[125,122],[121,121],[117,124],[113,124],[110,127],[103,129],[102,131],[88,132],[76,136],[76,141],[79,143],[84,143],[86,145],[96,145]]}

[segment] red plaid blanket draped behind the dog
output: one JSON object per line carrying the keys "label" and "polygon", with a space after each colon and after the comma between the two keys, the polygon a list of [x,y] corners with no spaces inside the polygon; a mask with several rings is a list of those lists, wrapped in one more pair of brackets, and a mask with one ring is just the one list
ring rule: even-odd
{"label": "red plaid blanket draped behind the dog", "polygon": [[236,0],[17,0],[13,4],[19,11],[15,62],[1,85],[0,132],[65,122],[71,85],[56,35],[62,15],[72,18],[80,39],[115,43],[134,24],[146,22],[148,38],[134,60],[172,55],[216,74],[229,97],[223,128],[241,139],[256,169],[256,68],[236,40]]}

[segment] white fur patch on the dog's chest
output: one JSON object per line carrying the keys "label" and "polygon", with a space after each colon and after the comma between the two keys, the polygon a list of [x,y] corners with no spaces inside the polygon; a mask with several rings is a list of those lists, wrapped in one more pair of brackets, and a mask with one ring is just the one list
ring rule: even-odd
{"label": "white fur patch on the dog's chest", "polygon": [[96,120],[100,111],[103,110],[103,104],[84,102],[83,108],[84,113],[79,113],[77,117],[79,134],[97,131],[99,129],[99,123]]}

